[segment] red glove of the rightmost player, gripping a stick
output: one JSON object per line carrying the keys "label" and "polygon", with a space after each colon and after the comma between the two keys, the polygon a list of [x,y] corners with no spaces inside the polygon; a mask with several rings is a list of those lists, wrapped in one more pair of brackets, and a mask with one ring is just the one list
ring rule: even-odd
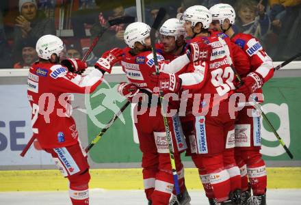
{"label": "red glove of the rightmost player, gripping a stick", "polygon": [[241,79],[241,81],[243,81],[244,84],[240,87],[235,85],[237,87],[236,92],[240,92],[247,96],[256,92],[256,90],[263,85],[263,77],[257,72],[250,72],[247,77]]}

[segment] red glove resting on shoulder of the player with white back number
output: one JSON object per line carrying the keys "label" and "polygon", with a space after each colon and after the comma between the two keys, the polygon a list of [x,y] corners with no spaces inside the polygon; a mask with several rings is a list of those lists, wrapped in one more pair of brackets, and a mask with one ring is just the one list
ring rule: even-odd
{"label": "red glove resting on shoulder of the player with white back number", "polygon": [[187,56],[190,61],[209,61],[212,47],[204,42],[193,42],[188,44]]}

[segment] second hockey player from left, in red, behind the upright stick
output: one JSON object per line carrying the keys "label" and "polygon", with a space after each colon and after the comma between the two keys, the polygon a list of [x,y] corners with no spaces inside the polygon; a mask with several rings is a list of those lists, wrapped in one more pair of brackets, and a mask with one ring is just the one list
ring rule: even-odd
{"label": "second hockey player from left, in red, behind the upright stick", "polygon": [[[132,23],[125,30],[125,42],[129,46],[124,49],[125,56],[122,59],[122,68],[127,74],[130,83],[121,83],[118,92],[128,98],[133,98],[137,94],[137,90],[148,93],[146,103],[139,101],[135,107],[135,111],[142,110],[144,113],[135,115],[137,121],[135,126],[138,130],[140,139],[140,150],[142,151],[142,167],[144,177],[144,189],[149,204],[168,204],[170,195],[174,187],[172,178],[170,156],[168,144],[166,141],[165,126],[161,115],[161,105],[155,100],[153,94],[154,88],[166,92],[179,92],[181,79],[174,74],[160,74],[159,79],[164,83],[158,84],[151,78],[155,73],[155,64],[153,53],[150,46],[150,27],[145,23]],[[197,44],[195,45],[198,46]],[[200,56],[198,51],[200,48],[192,48],[189,54],[184,54],[169,64],[164,57],[157,54],[160,70],[181,70],[183,66],[189,64],[190,59],[198,59]],[[130,91],[131,90],[131,91]],[[155,102],[155,103],[152,103]],[[152,122],[152,123],[150,123]],[[174,159],[176,162],[176,170],[179,174],[179,185],[183,192],[183,165],[181,163],[180,154],[186,149],[185,139],[181,131],[179,117],[173,115],[168,118],[170,126],[172,144],[174,148]],[[183,202],[180,202],[183,203]]]}

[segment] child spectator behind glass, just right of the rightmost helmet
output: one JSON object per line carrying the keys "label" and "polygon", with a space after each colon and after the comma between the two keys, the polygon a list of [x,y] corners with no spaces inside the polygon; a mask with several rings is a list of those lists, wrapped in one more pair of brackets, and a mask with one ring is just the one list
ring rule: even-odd
{"label": "child spectator behind glass, just right of the rightmost helmet", "polygon": [[238,16],[235,20],[237,32],[249,33],[263,42],[271,26],[264,5],[254,0],[240,0],[235,7]]}

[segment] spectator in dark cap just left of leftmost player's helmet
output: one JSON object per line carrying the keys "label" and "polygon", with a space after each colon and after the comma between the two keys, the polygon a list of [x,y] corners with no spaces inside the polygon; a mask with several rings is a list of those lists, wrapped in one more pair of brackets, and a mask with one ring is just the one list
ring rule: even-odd
{"label": "spectator in dark cap just left of leftmost player's helmet", "polygon": [[21,61],[14,64],[14,68],[29,68],[35,61],[38,60],[38,54],[36,53],[36,41],[23,40],[20,46],[22,51]]}

